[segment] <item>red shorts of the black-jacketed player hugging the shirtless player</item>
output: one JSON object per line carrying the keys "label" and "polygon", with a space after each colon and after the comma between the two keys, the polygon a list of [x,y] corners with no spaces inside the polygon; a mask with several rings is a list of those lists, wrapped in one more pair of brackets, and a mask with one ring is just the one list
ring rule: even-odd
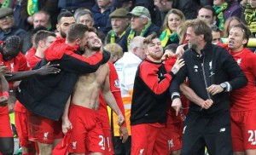
{"label": "red shorts of the black-jacketed player hugging the shirtless player", "polygon": [[63,137],[61,119],[54,121],[29,111],[26,111],[26,114],[28,138],[30,141],[52,144],[55,139],[61,139]]}

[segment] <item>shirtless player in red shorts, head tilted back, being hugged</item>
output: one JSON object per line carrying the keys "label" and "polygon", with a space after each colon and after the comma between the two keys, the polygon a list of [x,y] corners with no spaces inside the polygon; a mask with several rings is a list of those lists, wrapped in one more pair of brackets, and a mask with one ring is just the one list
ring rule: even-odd
{"label": "shirtless player in red shorts, head tilted back, being hugged", "polygon": [[[93,29],[87,32],[87,44],[85,45],[84,56],[89,57],[102,50],[102,41],[97,37]],[[99,93],[102,95],[114,112],[119,116],[118,123],[124,123],[125,118],[116,104],[113,94],[109,88],[108,64],[99,67],[96,72],[84,74],[79,77],[69,107],[69,121],[72,126],[69,152],[73,154],[90,155],[103,154],[105,150],[104,135],[100,118],[96,114],[99,107]],[[64,116],[67,116],[67,109]],[[64,124],[67,119],[62,119]],[[67,127],[67,125],[66,125]],[[64,127],[65,128],[65,127]],[[66,128],[67,129],[67,128]],[[63,129],[64,132],[65,129]]]}

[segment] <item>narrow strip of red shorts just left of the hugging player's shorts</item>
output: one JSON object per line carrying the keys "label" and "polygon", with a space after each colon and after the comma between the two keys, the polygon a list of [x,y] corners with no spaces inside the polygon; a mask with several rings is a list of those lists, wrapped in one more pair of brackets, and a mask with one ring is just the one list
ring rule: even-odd
{"label": "narrow strip of red shorts just left of the hugging player's shorts", "polygon": [[15,111],[15,126],[19,135],[20,146],[34,146],[33,141],[28,141],[26,112]]}

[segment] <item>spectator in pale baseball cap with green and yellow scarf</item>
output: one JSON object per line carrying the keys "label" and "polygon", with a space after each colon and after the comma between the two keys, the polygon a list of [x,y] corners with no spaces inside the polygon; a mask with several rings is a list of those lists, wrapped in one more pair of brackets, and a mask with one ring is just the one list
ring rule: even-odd
{"label": "spectator in pale baseball cap with green and yellow scarf", "polygon": [[133,37],[147,37],[152,32],[160,32],[160,28],[151,22],[151,15],[145,7],[137,6],[128,14],[131,15],[131,28],[127,29],[124,38],[119,43],[124,52],[128,51]]}

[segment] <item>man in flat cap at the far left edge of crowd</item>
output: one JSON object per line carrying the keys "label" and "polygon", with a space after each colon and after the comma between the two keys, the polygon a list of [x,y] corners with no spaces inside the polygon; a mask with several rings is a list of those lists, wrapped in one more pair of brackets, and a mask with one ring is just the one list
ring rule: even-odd
{"label": "man in flat cap at the far left edge of crowd", "polygon": [[0,40],[5,41],[7,37],[19,36],[20,38],[26,33],[25,30],[15,26],[13,9],[0,9]]}

